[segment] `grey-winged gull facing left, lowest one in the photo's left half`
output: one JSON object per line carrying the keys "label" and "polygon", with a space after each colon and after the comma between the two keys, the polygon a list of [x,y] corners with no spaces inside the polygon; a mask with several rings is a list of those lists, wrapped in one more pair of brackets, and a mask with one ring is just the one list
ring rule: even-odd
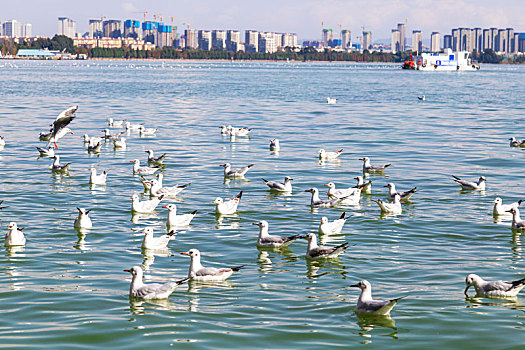
{"label": "grey-winged gull facing left, lowest one in the photo's left half", "polygon": [[124,270],[131,273],[131,285],[129,286],[129,296],[140,299],[166,299],[173,291],[186,282],[188,279],[184,278],[177,282],[168,282],[164,284],[150,283],[144,284],[142,281],[142,267],[133,266],[131,269]]}

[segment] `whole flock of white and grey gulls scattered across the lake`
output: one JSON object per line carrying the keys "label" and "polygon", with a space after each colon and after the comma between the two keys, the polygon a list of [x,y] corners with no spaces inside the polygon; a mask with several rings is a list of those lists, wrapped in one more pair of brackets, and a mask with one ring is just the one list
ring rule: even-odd
{"label": "whole flock of white and grey gulls scattered across the lake", "polygon": [[[424,97],[423,97],[424,98]],[[328,104],[335,104],[337,99],[327,98]],[[62,164],[60,162],[60,155],[58,154],[58,142],[61,138],[67,134],[73,134],[73,131],[69,129],[68,125],[76,117],[75,112],[78,106],[73,106],[65,111],[61,112],[55,121],[51,125],[51,129],[47,133],[40,134],[40,140],[46,141],[46,147],[36,147],[40,157],[52,158],[53,162],[50,165],[50,169],[53,172],[66,173],[70,163]],[[141,136],[155,135],[158,131],[154,128],[146,128],[142,124],[131,124],[128,121],[113,119],[108,120],[108,128],[104,129],[104,135],[100,137],[89,137],[88,135],[82,136],[84,143],[87,146],[88,152],[98,153],[100,152],[102,142],[112,142],[116,149],[126,148],[126,138],[123,136],[124,132],[111,133],[109,128],[125,128],[126,130],[135,130],[139,132]],[[252,130],[249,128],[238,128],[231,125],[221,126],[220,132],[225,136],[229,136],[232,140],[236,137],[248,137]],[[4,147],[6,141],[0,136],[0,147]],[[525,147],[525,140],[516,140],[515,138],[510,139],[511,147]],[[280,150],[280,142],[278,139],[270,140],[270,150],[278,152]],[[147,165],[141,165],[139,159],[131,160],[133,163],[130,172],[137,176],[144,186],[144,192],[149,194],[149,199],[141,200],[140,196],[135,193],[131,199],[131,210],[134,213],[151,213],[153,212],[164,198],[175,197],[184,189],[188,188],[190,184],[176,185],[176,186],[165,186],[163,183],[163,174],[159,172],[164,164],[163,161],[166,158],[166,154],[155,156],[152,150],[147,150]],[[318,151],[318,159],[320,162],[334,161],[343,153],[343,149],[335,151],[326,151],[320,149]],[[355,186],[349,188],[339,189],[336,188],[333,182],[325,184],[328,187],[327,197],[321,198],[318,188],[305,189],[305,192],[311,193],[310,205],[313,208],[318,207],[335,207],[339,205],[355,205],[358,204],[362,195],[372,193],[372,181],[368,180],[365,182],[365,178],[369,173],[382,174],[391,164],[372,165],[370,158],[360,158],[363,162],[363,176],[357,176],[354,179],[357,181]],[[242,179],[246,173],[254,166],[249,164],[240,168],[233,168],[230,163],[220,164],[224,168],[225,179]],[[89,183],[92,185],[105,185],[107,182],[107,172],[99,172],[95,168],[91,168]],[[150,177],[150,178],[147,178]],[[463,190],[468,191],[484,191],[486,179],[480,176],[477,181],[468,181],[460,179],[457,176],[452,176],[452,180],[455,181]],[[292,193],[293,178],[286,176],[283,182],[269,181],[262,179],[263,184],[268,186],[270,191],[280,193]],[[262,185],[262,184],[261,184]],[[403,212],[403,202],[409,201],[418,190],[416,187],[411,190],[398,191],[394,183],[388,183],[388,199],[390,201],[383,201],[378,199],[375,201],[378,205],[378,209],[383,214],[397,215]],[[230,215],[237,212],[237,208],[240,205],[243,191],[231,199],[216,198],[213,203],[215,204],[215,211],[217,215]],[[525,230],[525,220],[520,218],[519,205],[522,201],[503,204],[501,198],[496,198],[493,203],[493,214],[494,216],[512,216],[512,229],[513,230]],[[0,201],[0,205],[3,201]],[[1,209],[8,208],[8,206],[0,206]],[[175,204],[168,204],[163,206],[168,210],[168,216],[166,221],[167,234],[155,236],[154,230],[151,227],[146,227],[143,231],[144,238],[142,241],[143,249],[164,249],[168,246],[172,240],[177,229],[190,225],[191,221],[195,218],[197,212],[179,214],[177,213],[177,207]],[[85,208],[77,208],[78,216],[75,219],[73,226],[76,229],[90,229],[93,227],[91,219],[89,217],[90,210]],[[318,233],[320,235],[332,235],[340,234],[343,227],[348,220],[346,213],[343,213],[339,218],[330,220],[328,217],[322,217],[319,224]],[[340,254],[344,253],[349,247],[347,242],[337,246],[324,246],[318,244],[318,237],[315,233],[308,234],[295,234],[287,237],[281,237],[277,235],[270,235],[269,224],[265,220],[254,222],[253,225],[258,226],[259,235],[257,238],[257,246],[260,248],[282,248],[286,247],[296,240],[305,239],[308,241],[305,256],[307,259],[333,259],[337,258]],[[10,222],[8,225],[8,232],[5,235],[5,246],[24,246],[26,244],[26,238],[24,235],[24,228],[19,228],[16,222]],[[190,258],[188,275],[185,278],[174,282],[168,282],[164,284],[148,283],[143,282],[143,269],[140,266],[133,266],[130,269],[124,271],[131,274],[131,284],[129,289],[129,295],[133,298],[139,299],[164,299],[168,298],[170,294],[181,284],[188,280],[215,283],[221,282],[229,278],[233,273],[241,270],[245,264],[232,267],[214,268],[203,266],[201,260],[201,253],[198,249],[193,248],[187,252],[182,252],[182,255]],[[485,281],[476,274],[469,274],[466,279],[466,289],[464,293],[468,296],[467,291],[470,287],[474,287],[476,296],[487,297],[487,298],[506,298],[515,297],[519,291],[525,287],[525,278],[517,281]],[[390,311],[397,303],[398,300],[406,297],[397,297],[388,300],[377,300],[372,297],[372,286],[370,282],[362,280],[351,287],[359,288],[361,294],[357,300],[356,313],[358,314],[374,314],[374,315],[389,315]]]}

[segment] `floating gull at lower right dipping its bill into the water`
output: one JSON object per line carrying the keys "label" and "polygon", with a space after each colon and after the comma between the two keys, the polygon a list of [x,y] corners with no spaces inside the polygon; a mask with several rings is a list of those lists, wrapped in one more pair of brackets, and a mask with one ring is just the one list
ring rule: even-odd
{"label": "floating gull at lower right dipping its bill into the water", "polygon": [[464,293],[467,297],[467,291],[471,286],[474,286],[474,289],[476,289],[476,296],[486,298],[515,297],[525,287],[525,278],[509,282],[487,282],[478,275],[471,273],[465,279],[465,283],[467,288],[465,288]]}

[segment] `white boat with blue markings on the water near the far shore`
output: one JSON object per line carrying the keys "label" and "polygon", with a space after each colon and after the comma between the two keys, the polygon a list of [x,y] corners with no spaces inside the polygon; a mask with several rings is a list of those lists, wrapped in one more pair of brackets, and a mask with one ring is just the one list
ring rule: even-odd
{"label": "white boat with blue markings on the water near the far shore", "polygon": [[470,52],[445,49],[444,52],[422,52],[405,61],[403,69],[425,71],[478,70],[479,64],[470,58]]}

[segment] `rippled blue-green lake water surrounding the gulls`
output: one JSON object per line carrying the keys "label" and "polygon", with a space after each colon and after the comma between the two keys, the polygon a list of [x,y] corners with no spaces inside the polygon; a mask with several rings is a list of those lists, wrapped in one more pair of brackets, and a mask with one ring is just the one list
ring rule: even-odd
{"label": "rippled blue-green lake water surrounding the gulls", "polygon": [[[522,348],[523,296],[466,299],[464,279],[525,277],[523,243],[510,221],[494,222],[495,197],[525,199],[525,153],[508,138],[525,138],[525,67],[484,65],[472,73],[406,72],[394,65],[238,62],[0,61],[0,212],[25,226],[27,245],[0,253],[0,343],[42,348]],[[425,94],[427,100],[416,96]],[[337,97],[327,105],[326,97]],[[59,154],[70,176],[38,159],[38,133],[78,104]],[[100,136],[106,118],[161,127],[156,137],[128,136],[126,151],[108,144],[88,155],[79,135]],[[218,126],[253,128],[230,142]],[[269,139],[281,140],[279,155]],[[340,162],[319,164],[317,150],[344,148]],[[167,152],[165,183],[191,182],[176,199],[198,210],[169,251],[144,255],[146,226],[165,230],[164,209],[131,221],[131,175],[144,150]],[[312,211],[304,189],[333,181],[353,186],[358,160],[391,162],[372,175],[373,194],[358,207]],[[222,168],[255,163],[246,181],[223,181]],[[108,170],[108,185],[91,189],[88,169]],[[465,193],[450,175],[487,178],[484,193]],[[260,178],[295,179],[291,196],[275,196]],[[374,199],[388,182],[421,191],[403,213],[381,217]],[[323,189],[323,191],[324,191]],[[218,220],[217,196],[244,196],[238,215]],[[77,235],[75,207],[92,209],[94,228]],[[270,233],[317,231],[320,218],[353,215],[327,244],[355,244],[334,261],[309,262],[306,241],[260,251],[258,228]],[[137,221],[138,220],[138,221]],[[248,264],[227,283],[184,285],[169,300],[128,298],[130,275],[147,267],[147,282],[187,274],[179,253],[198,248],[205,265]],[[379,299],[408,295],[391,319],[354,313],[361,279]],[[473,289],[471,289],[473,293]]]}

